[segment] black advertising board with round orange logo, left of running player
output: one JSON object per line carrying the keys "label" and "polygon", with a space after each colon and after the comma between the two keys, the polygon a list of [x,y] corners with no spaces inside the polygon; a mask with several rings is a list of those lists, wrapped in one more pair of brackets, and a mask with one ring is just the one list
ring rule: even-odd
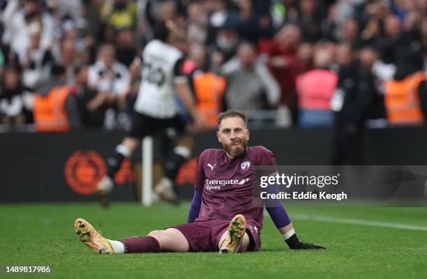
{"label": "black advertising board with round orange logo, left of running player", "polygon": [[[0,202],[92,200],[95,180],[121,133],[0,134]],[[133,199],[133,187],[117,187],[115,199]]]}

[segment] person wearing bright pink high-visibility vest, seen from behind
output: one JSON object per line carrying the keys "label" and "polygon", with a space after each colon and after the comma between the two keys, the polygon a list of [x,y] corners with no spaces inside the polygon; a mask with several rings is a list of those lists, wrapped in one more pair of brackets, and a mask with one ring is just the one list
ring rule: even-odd
{"label": "person wearing bright pink high-visibility vest, seen from behind", "polygon": [[333,57],[333,43],[317,45],[313,54],[313,70],[297,77],[292,104],[295,125],[301,128],[333,126],[331,98],[338,82],[338,75],[330,70]]}

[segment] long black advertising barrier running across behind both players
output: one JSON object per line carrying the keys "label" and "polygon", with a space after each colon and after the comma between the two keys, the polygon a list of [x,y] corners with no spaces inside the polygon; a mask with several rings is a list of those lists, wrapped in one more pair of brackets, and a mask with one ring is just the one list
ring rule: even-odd
{"label": "long black advertising barrier running across behind both players", "polygon": [[[96,181],[105,174],[105,160],[123,133],[7,133],[0,134],[0,202],[89,201]],[[279,165],[328,164],[330,130],[253,130],[250,145],[264,145]],[[214,131],[195,137],[193,160],[177,182],[181,195],[190,197],[195,158],[206,148],[219,147]],[[158,146],[157,149],[160,147]],[[137,152],[135,160],[140,151]],[[367,164],[427,165],[427,130],[389,128],[368,130],[364,157]],[[135,174],[130,161],[115,177],[114,200],[135,199]]]}

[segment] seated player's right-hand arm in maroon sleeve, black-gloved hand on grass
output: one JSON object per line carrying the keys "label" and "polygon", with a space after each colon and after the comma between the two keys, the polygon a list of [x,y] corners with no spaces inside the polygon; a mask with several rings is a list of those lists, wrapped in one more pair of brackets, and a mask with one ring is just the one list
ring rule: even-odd
{"label": "seated player's right-hand arm in maroon sleeve, black-gloved hand on grass", "polygon": [[[268,149],[262,148],[262,153],[260,154],[260,163],[262,166],[271,166],[267,167],[262,175],[275,174],[278,172],[276,165],[276,159],[271,151]],[[269,194],[278,194],[279,186],[271,185],[267,187],[267,193]],[[287,246],[291,249],[319,249],[324,248],[321,245],[314,243],[304,243],[299,241],[297,234],[295,234],[294,225],[292,225],[287,212],[283,208],[282,203],[279,199],[267,199],[265,200],[265,205],[267,212],[269,213],[271,220],[273,220],[274,225],[276,225],[280,234],[282,234],[283,239],[287,243]]]}

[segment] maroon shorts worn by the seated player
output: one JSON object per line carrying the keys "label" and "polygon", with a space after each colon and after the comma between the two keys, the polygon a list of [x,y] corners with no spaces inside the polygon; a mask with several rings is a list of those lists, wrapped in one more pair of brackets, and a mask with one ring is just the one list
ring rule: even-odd
{"label": "maroon shorts worn by the seated player", "polygon": [[[178,229],[187,239],[191,252],[218,251],[218,242],[221,236],[228,229],[230,220],[196,220],[193,223],[173,226]],[[246,232],[254,240],[252,251],[260,250],[260,227],[255,222],[246,220]]]}

